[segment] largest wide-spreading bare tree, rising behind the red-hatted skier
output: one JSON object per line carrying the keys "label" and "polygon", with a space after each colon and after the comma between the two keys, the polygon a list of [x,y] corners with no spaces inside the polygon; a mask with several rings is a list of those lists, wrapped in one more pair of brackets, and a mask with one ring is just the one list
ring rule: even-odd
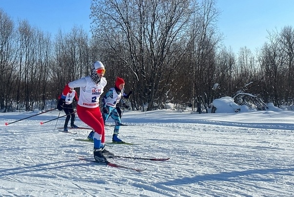
{"label": "largest wide-spreading bare tree, rising behind the red-hatted skier", "polygon": [[[169,75],[177,62],[174,45],[187,30],[191,14],[189,0],[94,0],[91,17],[94,35],[110,46],[117,65],[128,69],[136,89],[136,105],[164,99]],[[109,48],[109,47],[105,47]],[[105,58],[108,59],[108,58]],[[168,81],[167,81],[168,80]]]}

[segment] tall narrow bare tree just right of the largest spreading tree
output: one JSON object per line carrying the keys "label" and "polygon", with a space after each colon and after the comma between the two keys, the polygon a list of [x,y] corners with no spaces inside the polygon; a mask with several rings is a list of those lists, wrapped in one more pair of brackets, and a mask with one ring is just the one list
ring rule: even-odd
{"label": "tall narrow bare tree just right of the largest spreading tree", "polygon": [[205,109],[212,102],[212,86],[216,83],[214,76],[216,51],[222,39],[216,28],[219,14],[214,0],[203,0],[193,18],[191,40],[194,49],[190,77],[193,79],[193,98],[199,113],[201,113],[201,102]]}

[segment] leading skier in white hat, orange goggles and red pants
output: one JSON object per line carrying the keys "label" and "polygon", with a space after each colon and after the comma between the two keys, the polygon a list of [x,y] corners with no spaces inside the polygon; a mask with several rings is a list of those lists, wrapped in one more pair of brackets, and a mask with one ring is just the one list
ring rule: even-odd
{"label": "leading skier in white hat, orange goggles and red pants", "polygon": [[79,118],[93,128],[94,136],[94,159],[97,162],[108,163],[106,156],[113,156],[105,150],[104,121],[99,108],[99,97],[107,84],[105,77],[105,67],[101,62],[95,62],[90,76],[83,77],[73,82],[69,82],[63,92],[68,92],[70,88],[80,87],[80,98],[77,105]]}

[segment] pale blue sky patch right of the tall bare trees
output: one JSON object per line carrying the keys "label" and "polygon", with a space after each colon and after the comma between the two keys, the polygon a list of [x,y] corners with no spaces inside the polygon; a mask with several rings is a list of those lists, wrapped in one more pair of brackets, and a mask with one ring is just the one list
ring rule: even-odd
{"label": "pale blue sky patch right of the tall bare trees", "polygon": [[218,26],[224,44],[234,52],[246,46],[254,53],[268,42],[267,30],[294,27],[294,0],[218,0],[216,6],[222,11]]}

